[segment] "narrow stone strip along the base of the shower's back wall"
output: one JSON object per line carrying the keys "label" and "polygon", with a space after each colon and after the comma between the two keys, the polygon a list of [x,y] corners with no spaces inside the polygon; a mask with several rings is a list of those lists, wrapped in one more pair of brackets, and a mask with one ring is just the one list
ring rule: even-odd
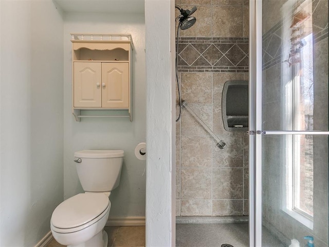
{"label": "narrow stone strip along the base of the shower's back wall", "polygon": [[228,224],[248,221],[248,216],[176,216],[176,224]]}

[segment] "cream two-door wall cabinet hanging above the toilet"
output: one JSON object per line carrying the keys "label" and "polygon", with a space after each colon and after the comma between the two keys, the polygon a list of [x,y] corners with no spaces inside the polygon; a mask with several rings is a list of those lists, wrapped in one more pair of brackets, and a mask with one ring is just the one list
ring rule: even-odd
{"label": "cream two-door wall cabinet hanging above the toilet", "polygon": [[126,116],[132,121],[130,34],[71,35],[72,104],[76,120]]}

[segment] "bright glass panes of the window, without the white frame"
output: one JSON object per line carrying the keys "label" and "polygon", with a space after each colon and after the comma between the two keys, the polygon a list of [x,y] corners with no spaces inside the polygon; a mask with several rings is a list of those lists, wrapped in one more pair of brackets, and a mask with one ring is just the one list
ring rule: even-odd
{"label": "bright glass panes of the window, without the white frame", "polygon": [[[313,37],[303,39],[301,61],[295,67],[298,76],[294,81],[294,130],[313,130]],[[293,209],[313,218],[313,135],[293,136]]]}

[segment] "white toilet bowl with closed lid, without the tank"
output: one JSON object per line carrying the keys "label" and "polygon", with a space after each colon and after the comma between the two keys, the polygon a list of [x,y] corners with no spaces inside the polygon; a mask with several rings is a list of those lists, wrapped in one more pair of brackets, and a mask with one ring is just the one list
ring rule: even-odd
{"label": "white toilet bowl with closed lid, without the tank", "polygon": [[107,246],[107,234],[102,231],[110,208],[111,202],[103,193],[71,197],[53,211],[52,235],[59,243],[72,247]]}

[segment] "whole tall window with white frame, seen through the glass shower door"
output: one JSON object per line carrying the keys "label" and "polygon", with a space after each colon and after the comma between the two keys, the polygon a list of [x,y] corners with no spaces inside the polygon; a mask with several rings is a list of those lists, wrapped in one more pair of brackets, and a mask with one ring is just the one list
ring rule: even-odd
{"label": "whole tall window with white frame, seen through the glass shower door", "polygon": [[[283,31],[289,41],[283,43],[284,128],[313,131],[313,35],[312,1],[297,1],[290,22]],[[283,76],[283,77],[284,77]],[[313,135],[288,135],[285,151],[283,211],[313,229]]]}

